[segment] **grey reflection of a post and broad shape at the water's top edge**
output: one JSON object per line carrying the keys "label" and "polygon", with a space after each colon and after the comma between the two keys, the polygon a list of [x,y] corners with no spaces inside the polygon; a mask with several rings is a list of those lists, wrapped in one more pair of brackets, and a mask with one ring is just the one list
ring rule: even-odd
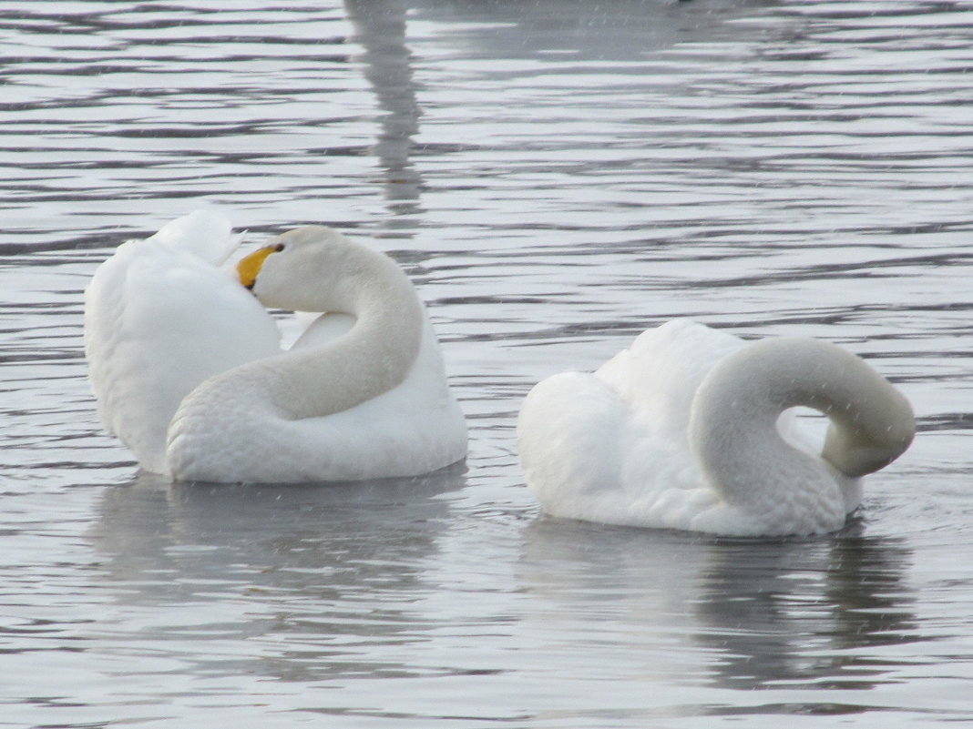
{"label": "grey reflection of a post and broad shape at the water's top edge", "polygon": [[[375,93],[380,114],[371,154],[390,216],[380,230],[410,237],[423,212],[425,187],[415,157],[449,154],[450,145],[416,142],[422,117],[424,63],[410,35],[415,22],[432,23],[452,36],[463,60],[533,59],[556,72],[578,73],[577,61],[645,61],[652,53],[680,42],[713,39],[727,32],[726,21],[775,5],[774,0],[344,0],[344,13],[354,28],[350,40],[362,52],[355,56]],[[557,71],[565,64],[563,71]],[[601,73],[595,69],[595,73]],[[615,74],[640,74],[637,66],[613,67]],[[500,68],[497,78],[516,80],[523,71]],[[456,88],[459,97],[466,89]],[[476,148],[476,144],[472,145]],[[453,152],[467,152],[469,144]],[[487,149],[485,145],[485,149]]]}

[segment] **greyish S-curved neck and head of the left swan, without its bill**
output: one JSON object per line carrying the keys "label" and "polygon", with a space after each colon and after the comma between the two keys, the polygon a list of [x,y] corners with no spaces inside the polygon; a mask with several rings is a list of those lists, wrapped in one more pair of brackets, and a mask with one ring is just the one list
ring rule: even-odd
{"label": "greyish S-curved neck and head of the left swan, without its bill", "polygon": [[[303,246],[305,238],[326,238],[327,245]],[[226,372],[218,385],[223,395],[246,392],[255,407],[269,405],[278,416],[297,420],[342,412],[405,380],[418,355],[424,313],[395,261],[326,228],[298,228],[277,240],[292,250],[265,262],[254,287],[261,302],[345,313],[355,324],[319,347]]]}

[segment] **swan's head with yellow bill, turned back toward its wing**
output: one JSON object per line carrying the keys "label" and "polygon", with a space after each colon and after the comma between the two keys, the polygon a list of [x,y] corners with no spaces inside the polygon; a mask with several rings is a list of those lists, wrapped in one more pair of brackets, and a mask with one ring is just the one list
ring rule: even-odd
{"label": "swan's head with yellow bill, turned back toward its wing", "polygon": [[304,226],[270,240],[236,264],[240,283],[266,306],[323,311],[322,298],[342,310],[342,280],[350,271],[355,244],[337,230]]}

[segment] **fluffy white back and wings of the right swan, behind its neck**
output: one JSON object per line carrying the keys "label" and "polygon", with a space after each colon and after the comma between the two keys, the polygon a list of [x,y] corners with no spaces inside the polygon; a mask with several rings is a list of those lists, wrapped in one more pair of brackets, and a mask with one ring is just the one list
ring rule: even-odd
{"label": "fluffy white back and wings of the right swan, behind its neck", "polygon": [[678,320],[641,333],[594,374],[538,383],[518,421],[527,484],[545,510],[595,522],[689,529],[699,488],[686,428],[696,389],[737,337]]}

